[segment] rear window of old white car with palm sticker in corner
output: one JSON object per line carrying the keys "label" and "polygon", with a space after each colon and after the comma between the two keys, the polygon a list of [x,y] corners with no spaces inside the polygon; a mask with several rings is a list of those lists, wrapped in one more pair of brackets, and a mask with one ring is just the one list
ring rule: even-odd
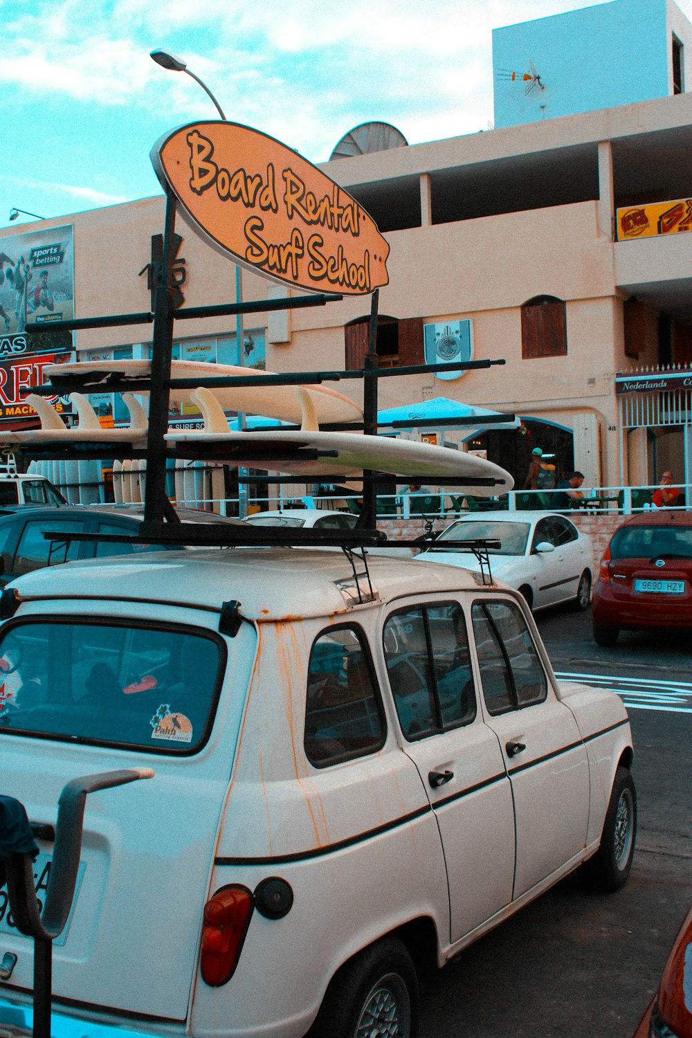
{"label": "rear window of old white car with palm sticker in corner", "polygon": [[184,627],[31,622],[0,638],[0,733],[190,754],[205,741],[225,663]]}

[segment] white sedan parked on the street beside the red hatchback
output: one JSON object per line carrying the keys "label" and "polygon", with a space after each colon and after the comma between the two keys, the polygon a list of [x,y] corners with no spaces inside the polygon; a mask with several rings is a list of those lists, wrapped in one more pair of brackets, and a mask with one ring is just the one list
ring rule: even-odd
{"label": "white sedan parked on the street beside the red hatchback", "polygon": [[488,552],[493,577],[521,592],[530,608],[558,602],[573,602],[578,609],[588,607],[591,539],[556,513],[473,512],[443,529],[418,558],[477,572],[478,559],[468,549],[456,548],[455,542],[483,539],[500,542],[499,548]]}

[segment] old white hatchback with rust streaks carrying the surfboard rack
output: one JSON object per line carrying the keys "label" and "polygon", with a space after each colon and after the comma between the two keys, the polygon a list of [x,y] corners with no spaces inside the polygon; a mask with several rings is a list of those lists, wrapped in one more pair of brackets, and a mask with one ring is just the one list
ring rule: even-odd
{"label": "old white hatchback with rust streaks carrying the surfboard rack", "polygon": [[[55,1038],[415,1038],[418,968],[578,867],[628,877],[621,700],[558,683],[521,595],[467,570],[91,558],[20,577],[0,619],[2,793],[40,851],[10,866],[64,920]],[[9,890],[0,1021],[21,1038],[33,892]]]}

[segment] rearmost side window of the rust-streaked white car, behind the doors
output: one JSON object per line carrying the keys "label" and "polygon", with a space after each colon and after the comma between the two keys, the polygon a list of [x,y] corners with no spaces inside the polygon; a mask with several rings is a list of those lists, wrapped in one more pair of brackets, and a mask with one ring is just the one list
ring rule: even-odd
{"label": "rearmost side window of the rust-streaked white car, behind the doors", "polygon": [[362,631],[330,627],[314,641],[307,675],[305,753],[310,764],[372,754],[386,727],[372,663]]}

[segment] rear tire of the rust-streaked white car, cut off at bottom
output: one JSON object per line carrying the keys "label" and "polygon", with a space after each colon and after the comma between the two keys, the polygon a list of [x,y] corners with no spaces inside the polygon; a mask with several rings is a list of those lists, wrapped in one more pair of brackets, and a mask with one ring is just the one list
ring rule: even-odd
{"label": "rear tire of the rust-streaked white car, cut off at bottom", "polygon": [[370,945],[332,980],[308,1038],[416,1038],[418,978],[400,940]]}

